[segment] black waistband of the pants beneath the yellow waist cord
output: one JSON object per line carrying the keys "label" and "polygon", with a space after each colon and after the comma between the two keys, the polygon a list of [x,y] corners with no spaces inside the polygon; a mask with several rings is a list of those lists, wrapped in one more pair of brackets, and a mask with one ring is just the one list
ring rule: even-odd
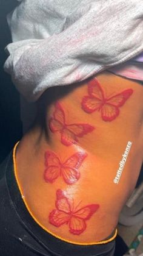
{"label": "black waistband of the pants beneath the yellow waist cord", "polygon": [[[50,233],[42,229],[28,213],[24,202],[22,201],[21,194],[16,183],[15,174],[13,170],[13,157],[12,152],[10,153],[6,165],[6,180],[7,187],[12,199],[12,203],[15,206],[15,210],[19,215],[24,229],[28,230],[32,240],[36,240],[37,243],[41,244],[41,255],[62,255],[62,256],[96,256],[96,255],[113,255],[110,252],[115,247],[115,240],[110,241],[107,244],[97,245],[76,245],[66,243],[65,241],[59,240]],[[47,252],[47,254],[42,254]]]}

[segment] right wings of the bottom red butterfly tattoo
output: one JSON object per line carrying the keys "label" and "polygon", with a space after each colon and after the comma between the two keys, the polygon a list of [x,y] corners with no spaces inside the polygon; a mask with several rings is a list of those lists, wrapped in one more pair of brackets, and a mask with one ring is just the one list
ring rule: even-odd
{"label": "right wings of the bottom red butterfly tattoo", "polygon": [[82,207],[73,213],[69,221],[70,233],[73,233],[74,235],[80,235],[82,232],[84,232],[87,227],[85,221],[90,219],[90,217],[98,210],[98,208],[98,204],[91,204]]}

